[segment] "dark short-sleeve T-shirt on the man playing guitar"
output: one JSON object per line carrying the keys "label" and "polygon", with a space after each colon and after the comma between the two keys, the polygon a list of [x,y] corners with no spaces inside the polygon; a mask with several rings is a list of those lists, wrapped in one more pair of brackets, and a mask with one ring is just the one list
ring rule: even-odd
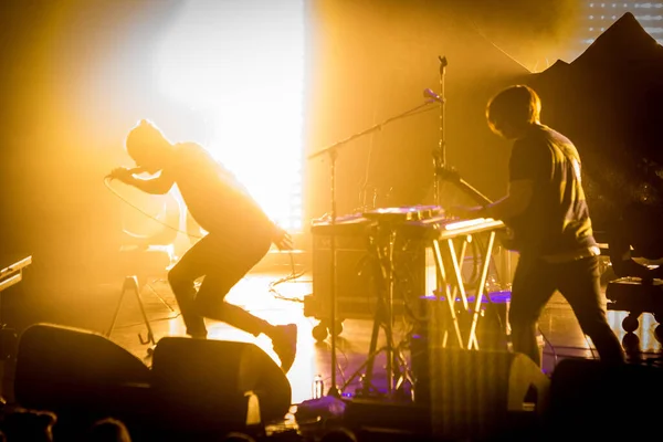
{"label": "dark short-sleeve T-shirt on the man playing guitar", "polygon": [[597,245],[580,167],[573,144],[547,126],[533,126],[514,143],[509,181],[534,182],[525,212],[505,220],[522,254],[548,256]]}

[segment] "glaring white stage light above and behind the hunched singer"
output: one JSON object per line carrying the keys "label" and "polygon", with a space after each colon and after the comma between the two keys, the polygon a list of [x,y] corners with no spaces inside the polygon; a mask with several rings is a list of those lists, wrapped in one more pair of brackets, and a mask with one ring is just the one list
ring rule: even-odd
{"label": "glaring white stage light above and behind the hunched singer", "polygon": [[204,115],[200,141],[272,220],[301,231],[303,0],[189,1],[158,49],[157,81]]}

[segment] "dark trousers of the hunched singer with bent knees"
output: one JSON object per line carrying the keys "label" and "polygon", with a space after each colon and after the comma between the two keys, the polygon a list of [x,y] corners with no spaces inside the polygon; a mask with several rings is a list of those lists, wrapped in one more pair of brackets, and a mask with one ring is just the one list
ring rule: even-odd
{"label": "dark trousers of the hunched singer with bent knees", "polygon": [[[230,290],[267,253],[271,240],[209,233],[189,249],[168,273],[187,334],[204,336],[203,317],[222,320],[252,335],[267,333],[271,325],[241,307],[224,302]],[[204,276],[199,290],[194,282]]]}

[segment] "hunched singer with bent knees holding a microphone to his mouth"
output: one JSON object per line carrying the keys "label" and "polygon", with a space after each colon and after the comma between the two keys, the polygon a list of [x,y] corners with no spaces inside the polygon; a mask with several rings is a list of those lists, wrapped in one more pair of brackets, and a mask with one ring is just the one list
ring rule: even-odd
{"label": "hunched singer with bent knees holding a microphone to his mouth", "polygon": [[[118,168],[110,177],[154,194],[166,193],[177,185],[191,217],[208,232],[168,273],[187,334],[207,338],[203,317],[254,336],[265,334],[287,372],[295,359],[296,325],[271,325],[224,302],[224,297],[265,256],[272,243],[291,249],[290,235],[201,146],[172,144],[151,123],[141,120],[130,130],[126,148],[137,169]],[[159,175],[151,179],[134,176],[141,171]],[[197,291],[194,281],[200,276],[204,280]]]}

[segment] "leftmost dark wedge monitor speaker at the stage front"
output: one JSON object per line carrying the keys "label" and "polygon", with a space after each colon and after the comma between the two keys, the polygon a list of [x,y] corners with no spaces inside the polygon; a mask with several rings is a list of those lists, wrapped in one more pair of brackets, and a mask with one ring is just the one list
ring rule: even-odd
{"label": "leftmost dark wedge monitor speaker at the stage front", "polygon": [[35,324],[19,338],[14,397],[22,407],[126,409],[137,403],[127,392],[141,394],[149,381],[149,367],[94,332]]}

